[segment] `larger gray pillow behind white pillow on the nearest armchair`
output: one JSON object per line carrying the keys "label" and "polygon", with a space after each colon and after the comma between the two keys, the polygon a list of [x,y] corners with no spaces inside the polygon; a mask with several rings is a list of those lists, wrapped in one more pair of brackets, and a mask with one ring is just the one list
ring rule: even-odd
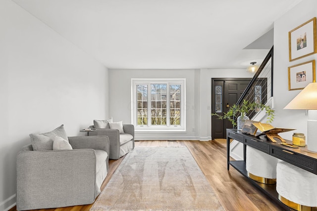
{"label": "larger gray pillow behind white pillow on the nearest armchair", "polygon": [[53,140],[56,136],[62,137],[68,142],[64,125],[61,125],[50,132],[30,134],[33,150],[53,150]]}

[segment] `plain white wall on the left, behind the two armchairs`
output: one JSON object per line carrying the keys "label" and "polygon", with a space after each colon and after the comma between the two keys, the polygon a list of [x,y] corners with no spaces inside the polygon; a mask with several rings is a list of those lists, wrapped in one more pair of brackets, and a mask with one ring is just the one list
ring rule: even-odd
{"label": "plain white wall on the left, behind the two armchairs", "polygon": [[0,211],[15,204],[16,155],[30,133],[68,136],[107,116],[107,69],[11,0],[0,1]]}

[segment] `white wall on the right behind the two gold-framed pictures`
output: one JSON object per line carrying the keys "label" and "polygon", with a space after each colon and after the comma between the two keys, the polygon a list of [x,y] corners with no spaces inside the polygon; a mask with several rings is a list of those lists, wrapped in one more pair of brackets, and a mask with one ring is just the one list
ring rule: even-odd
{"label": "white wall on the right behind the two gold-framed pictures", "polygon": [[280,133],[292,140],[293,132],[307,135],[305,110],[284,110],[283,108],[300,92],[288,90],[288,67],[317,59],[317,54],[289,62],[288,32],[317,16],[317,1],[303,0],[274,23],[274,109],[276,116],[273,126],[290,127],[297,130]]}

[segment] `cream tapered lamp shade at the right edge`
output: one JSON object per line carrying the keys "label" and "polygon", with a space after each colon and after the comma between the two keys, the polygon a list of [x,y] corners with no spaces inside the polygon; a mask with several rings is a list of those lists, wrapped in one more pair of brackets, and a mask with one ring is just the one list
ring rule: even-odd
{"label": "cream tapered lamp shade at the right edge", "polygon": [[317,83],[308,84],[284,109],[317,109]]}

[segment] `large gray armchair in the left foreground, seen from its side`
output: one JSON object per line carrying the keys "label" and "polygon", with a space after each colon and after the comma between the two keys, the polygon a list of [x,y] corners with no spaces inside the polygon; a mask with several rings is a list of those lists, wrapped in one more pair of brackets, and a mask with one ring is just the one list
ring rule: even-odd
{"label": "large gray armchair in the left foreground, seen from its side", "polygon": [[92,204],[108,172],[107,136],[68,137],[73,150],[17,155],[16,209],[34,210]]}

